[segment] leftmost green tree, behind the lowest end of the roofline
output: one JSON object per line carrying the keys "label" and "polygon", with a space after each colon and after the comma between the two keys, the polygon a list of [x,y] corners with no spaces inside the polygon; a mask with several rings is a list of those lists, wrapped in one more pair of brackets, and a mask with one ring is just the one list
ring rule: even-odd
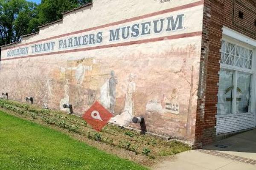
{"label": "leftmost green tree, behind the lowest end of the roofline", "polygon": [[36,6],[26,0],[0,0],[0,45],[19,41],[21,35],[29,33]]}

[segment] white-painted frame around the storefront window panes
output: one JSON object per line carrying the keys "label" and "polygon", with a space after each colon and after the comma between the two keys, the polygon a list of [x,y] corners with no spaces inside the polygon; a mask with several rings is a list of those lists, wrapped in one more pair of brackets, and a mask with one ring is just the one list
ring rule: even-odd
{"label": "white-painted frame around the storefront window panes", "polygon": [[[227,114],[217,114],[216,118],[219,117],[227,117],[227,116],[235,116],[235,115],[248,115],[248,114],[253,114],[255,113],[255,109],[256,109],[256,92],[255,92],[255,80],[256,80],[256,41],[254,40],[254,42],[252,40],[250,40],[250,44],[248,44],[247,42],[249,42],[249,40],[247,40],[247,37],[237,33],[236,31],[234,31],[234,34],[231,34],[233,30],[230,31],[230,29],[228,29],[228,33],[229,35],[225,35],[223,34],[223,38],[222,40],[225,40],[227,42],[231,42],[233,44],[239,45],[241,47],[250,49],[253,51],[253,56],[252,56],[252,67],[251,69],[246,69],[246,68],[240,68],[240,67],[236,67],[233,65],[227,65],[227,64],[223,64],[221,63],[221,68],[227,70],[227,71],[234,71],[233,74],[233,95],[232,95],[232,110],[231,113],[227,113]],[[227,31],[226,31],[227,32]],[[225,28],[223,28],[223,33],[225,33]],[[239,36],[238,36],[239,34]],[[231,37],[232,36],[232,37]],[[242,38],[241,38],[242,37]],[[253,43],[252,43],[253,42]],[[255,45],[255,46],[254,46]],[[221,49],[220,49],[221,52]],[[220,61],[221,62],[221,61]],[[249,108],[248,108],[248,112],[247,113],[236,113],[236,87],[237,87],[237,74],[238,72],[242,72],[245,74],[250,74],[250,99],[249,99]],[[218,104],[216,105],[218,107]]]}

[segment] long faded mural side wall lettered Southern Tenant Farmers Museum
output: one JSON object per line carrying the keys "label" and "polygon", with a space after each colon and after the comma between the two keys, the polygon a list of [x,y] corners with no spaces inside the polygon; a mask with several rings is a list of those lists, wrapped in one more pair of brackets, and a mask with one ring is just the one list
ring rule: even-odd
{"label": "long faded mural side wall lettered Southern Tenant Farmers Museum", "polygon": [[99,101],[111,123],[144,116],[150,132],[194,140],[202,17],[198,0],[94,0],[2,47],[0,91],[78,115]]}

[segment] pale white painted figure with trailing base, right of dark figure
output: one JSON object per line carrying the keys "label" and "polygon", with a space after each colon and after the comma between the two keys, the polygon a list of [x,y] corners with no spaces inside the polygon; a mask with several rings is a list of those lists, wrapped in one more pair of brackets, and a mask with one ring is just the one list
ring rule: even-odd
{"label": "pale white painted figure with trailing base, right of dark figure", "polygon": [[124,111],[120,115],[116,115],[115,117],[113,117],[110,120],[111,123],[115,123],[120,126],[128,126],[131,123],[133,118],[134,93],[136,88],[136,84],[133,80],[134,80],[134,75],[130,74],[127,92],[126,92],[126,98],[125,98]]}

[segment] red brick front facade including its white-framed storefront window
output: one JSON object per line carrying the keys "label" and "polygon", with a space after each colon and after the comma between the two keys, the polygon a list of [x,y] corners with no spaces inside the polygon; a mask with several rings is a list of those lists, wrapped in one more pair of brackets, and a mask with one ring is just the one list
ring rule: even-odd
{"label": "red brick front facade including its white-framed storefront window", "polygon": [[255,0],[204,1],[196,143],[256,126],[255,45]]}

